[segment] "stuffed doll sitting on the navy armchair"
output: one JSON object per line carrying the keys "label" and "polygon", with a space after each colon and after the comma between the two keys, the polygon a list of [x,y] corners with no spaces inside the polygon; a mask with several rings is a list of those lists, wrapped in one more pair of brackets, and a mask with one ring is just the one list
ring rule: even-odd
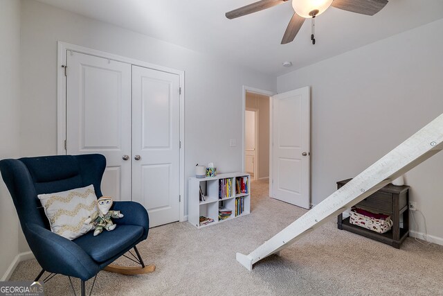
{"label": "stuffed doll sitting on the navy armchair", "polygon": [[105,228],[108,232],[114,230],[117,225],[112,223],[111,218],[123,218],[123,214],[120,211],[109,211],[112,206],[112,198],[109,196],[102,196],[97,200],[98,211],[94,212],[87,220],[84,220],[84,224],[92,223],[94,230],[94,236],[98,236]]}

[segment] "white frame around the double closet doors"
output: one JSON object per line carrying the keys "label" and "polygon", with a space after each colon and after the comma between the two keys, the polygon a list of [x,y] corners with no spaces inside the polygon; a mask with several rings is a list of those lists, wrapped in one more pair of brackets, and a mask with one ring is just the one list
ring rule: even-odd
{"label": "white frame around the double closet doors", "polygon": [[107,53],[105,51],[98,51],[96,49],[88,49],[84,46],[70,44],[66,42],[57,42],[57,154],[66,155],[64,149],[64,141],[66,139],[66,76],[65,71],[69,72],[69,68],[66,69],[66,51],[73,51],[78,53],[84,53],[87,55],[95,55],[99,58],[105,58],[108,60],[115,60],[118,62],[125,62],[127,64],[133,64],[140,67],[150,68],[157,71],[163,71],[168,73],[177,74],[180,78],[180,222],[187,220],[185,216],[185,71],[171,69],[168,67],[143,62],[140,60],[134,60],[132,58],[125,58],[121,55],[114,55],[113,53]]}

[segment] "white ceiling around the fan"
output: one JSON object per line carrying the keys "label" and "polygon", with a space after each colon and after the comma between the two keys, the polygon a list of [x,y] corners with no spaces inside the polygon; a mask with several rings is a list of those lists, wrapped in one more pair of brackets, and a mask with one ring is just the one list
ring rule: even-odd
{"label": "white ceiling around the fan", "polygon": [[[443,0],[389,0],[372,17],[329,8],[296,40],[280,45],[293,14],[290,1],[238,19],[225,12],[254,0],[38,0],[188,49],[278,76],[443,18]],[[435,36],[441,38],[442,36]],[[293,67],[284,68],[282,62]]]}

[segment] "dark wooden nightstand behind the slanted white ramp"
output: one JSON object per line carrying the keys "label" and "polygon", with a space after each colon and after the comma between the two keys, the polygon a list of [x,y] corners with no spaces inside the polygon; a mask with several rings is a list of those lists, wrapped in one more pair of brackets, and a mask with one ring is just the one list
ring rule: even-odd
{"label": "dark wooden nightstand behind the slanted white ramp", "polygon": [[[337,188],[345,185],[350,180],[351,179],[347,179],[337,182]],[[348,232],[354,232],[354,234],[360,234],[361,236],[372,238],[375,241],[386,243],[399,249],[401,243],[403,243],[409,235],[408,193],[409,186],[394,186],[388,184],[355,205],[356,207],[367,209],[374,213],[390,215],[394,224],[389,232],[379,234],[369,229],[352,225],[349,222],[349,217],[343,219],[343,214],[338,215],[338,229],[345,229]],[[403,218],[402,227],[400,227],[400,216]]]}

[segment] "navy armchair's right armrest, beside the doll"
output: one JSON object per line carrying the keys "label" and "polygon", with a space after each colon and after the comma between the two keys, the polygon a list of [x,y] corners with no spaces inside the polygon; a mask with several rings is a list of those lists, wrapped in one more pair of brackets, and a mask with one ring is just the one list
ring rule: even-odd
{"label": "navy armchair's right armrest, beside the doll", "polygon": [[123,218],[113,219],[117,225],[138,225],[143,227],[143,239],[147,237],[150,228],[150,218],[145,207],[138,202],[114,202],[112,210],[120,211]]}

